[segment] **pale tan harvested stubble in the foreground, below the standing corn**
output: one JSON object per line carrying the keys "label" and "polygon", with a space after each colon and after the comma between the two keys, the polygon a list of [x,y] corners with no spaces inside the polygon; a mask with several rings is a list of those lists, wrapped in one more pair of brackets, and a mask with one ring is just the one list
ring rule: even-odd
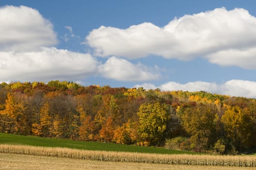
{"label": "pale tan harvested stubble in the foreground, below the standing corn", "polygon": [[103,162],[70,158],[0,153],[0,170],[254,170],[245,167],[188,166]]}

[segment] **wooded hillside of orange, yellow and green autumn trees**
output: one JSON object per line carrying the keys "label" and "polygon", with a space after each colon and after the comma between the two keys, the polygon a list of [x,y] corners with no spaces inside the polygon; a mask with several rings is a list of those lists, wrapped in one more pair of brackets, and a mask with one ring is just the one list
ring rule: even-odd
{"label": "wooded hillside of orange, yellow and green autumn trees", "polygon": [[1,83],[0,132],[249,153],[256,149],[256,100],[59,81]]}

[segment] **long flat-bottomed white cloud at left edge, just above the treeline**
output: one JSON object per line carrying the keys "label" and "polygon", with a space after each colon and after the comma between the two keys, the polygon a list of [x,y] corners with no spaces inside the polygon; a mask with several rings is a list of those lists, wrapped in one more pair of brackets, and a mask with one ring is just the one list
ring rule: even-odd
{"label": "long flat-bottomed white cloud at left edge, just above the treeline", "polygon": [[34,52],[0,52],[0,81],[79,81],[97,74],[99,63],[90,54],[42,48]]}

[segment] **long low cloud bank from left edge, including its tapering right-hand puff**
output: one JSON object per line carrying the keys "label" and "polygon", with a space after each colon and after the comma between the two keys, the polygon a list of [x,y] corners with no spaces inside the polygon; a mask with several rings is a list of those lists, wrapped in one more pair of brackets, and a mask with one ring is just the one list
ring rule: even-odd
{"label": "long low cloud bank from left edge, including its tapering right-hand puff", "polygon": [[56,48],[30,52],[0,51],[1,82],[48,82],[53,79],[82,81],[89,76],[134,82],[154,80],[159,76],[147,69],[116,57],[101,64],[88,53]]}

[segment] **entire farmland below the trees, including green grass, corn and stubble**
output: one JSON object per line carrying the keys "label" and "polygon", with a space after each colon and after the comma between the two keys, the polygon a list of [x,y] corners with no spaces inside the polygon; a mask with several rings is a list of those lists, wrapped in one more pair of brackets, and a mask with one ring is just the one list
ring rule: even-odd
{"label": "entire farmland below the trees, including green grass, corn and stubble", "polygon": [[[27,158],[23,159],[23,156]],[[75,164],[75,167],[72,166],[71,168],[77,170],[117,170],[124,169],[124,167],[126,170],[129,170],[129,167],[133,170],[250,170],[247,167],[253,167],[254,169],[256,167],[256,155],[191,154],[189,152],[154,147],[83,142],[0,133],[0,170],[34,169],[33,161],[38,167],[48,169],[45,166],[50,166],[51,161],[44,162],[47,159],[53,161],[52,165],[57,164],[60,165],[58,167],[63,166],[60,169],[70,169],[70,164]],[[69,161],[74,163],[68,163]],[[76,161],[77,164],[75,163]],[[140,164],[143,164],[143,166]],[[153,168],[153,165],[155,168]],[[28,166],[31,166],[31,168]]]}

